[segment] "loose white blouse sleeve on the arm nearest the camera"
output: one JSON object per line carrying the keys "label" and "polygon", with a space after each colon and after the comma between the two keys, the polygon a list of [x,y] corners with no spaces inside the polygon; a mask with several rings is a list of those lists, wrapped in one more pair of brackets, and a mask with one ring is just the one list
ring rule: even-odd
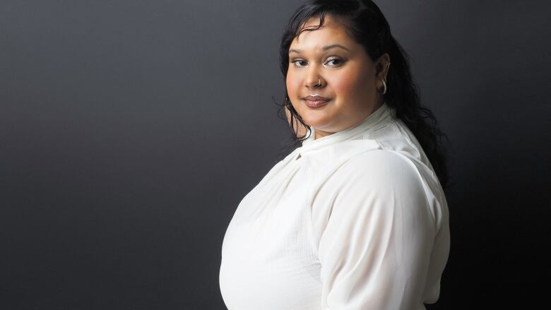
{"label": "loose white blouse sleeve on the arm nearest the camera", "polygon": [[434,213],[413,162],[386,150],[356,155],[324,191],[322,309],[425,309]]}

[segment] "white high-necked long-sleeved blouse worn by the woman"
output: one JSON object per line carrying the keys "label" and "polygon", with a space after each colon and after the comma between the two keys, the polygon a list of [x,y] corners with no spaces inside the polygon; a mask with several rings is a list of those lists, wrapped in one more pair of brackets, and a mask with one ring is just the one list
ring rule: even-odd
{"label": "white high-necked long-sleeved blouse worn by the woman", "polygon": [[425,309],[449,254],[446,198],[394,109],[314,139],[239,203],[222,245],[230,310]]}

